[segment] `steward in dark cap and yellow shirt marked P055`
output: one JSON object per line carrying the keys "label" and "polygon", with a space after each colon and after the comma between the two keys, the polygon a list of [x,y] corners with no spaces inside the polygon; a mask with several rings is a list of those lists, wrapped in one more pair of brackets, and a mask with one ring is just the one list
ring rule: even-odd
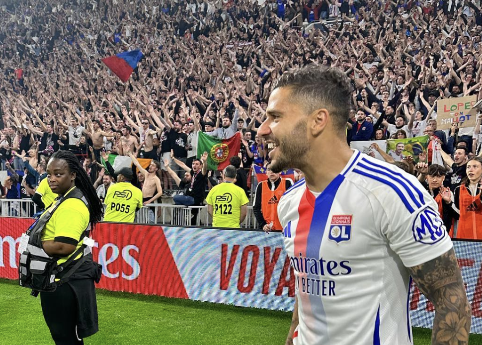
{"label": "steward in dark cap and yellow shirt marked P055", "polygon": [[117,183],[107,189],[104,199],[104,221],[133,223],[136,212],[142,207],[142,190],[131,183],[134,178],[131,169],[122,168],[116,175]]}

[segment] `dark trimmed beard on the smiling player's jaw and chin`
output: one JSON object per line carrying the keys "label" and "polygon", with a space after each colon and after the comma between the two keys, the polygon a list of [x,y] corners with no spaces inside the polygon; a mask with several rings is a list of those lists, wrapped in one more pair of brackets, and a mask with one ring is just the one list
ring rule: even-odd
{"label": "dark trimmed beard on the smiling player's jaw and chin", "polygon": [[280,173],[285,169],[301,168],[309,151],[306,137],[306,119],[300,120],[285,139],[279,140],[276,158],[271,161],[271,170]]}

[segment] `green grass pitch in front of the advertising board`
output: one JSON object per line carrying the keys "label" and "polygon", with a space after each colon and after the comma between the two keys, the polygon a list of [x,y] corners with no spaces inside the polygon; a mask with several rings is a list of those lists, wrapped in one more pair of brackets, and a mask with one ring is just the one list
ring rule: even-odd
{"label": "green grass pitch in front of the advertising board", "polygon": [[[0,345],[53,344],[40,298],[0,279]],[[86,345],[284,345],[291,313],[97,290],[99,333]],[[414,329],[415,345],[430,330]],[[481,344],[472,335],[470,344]]]}

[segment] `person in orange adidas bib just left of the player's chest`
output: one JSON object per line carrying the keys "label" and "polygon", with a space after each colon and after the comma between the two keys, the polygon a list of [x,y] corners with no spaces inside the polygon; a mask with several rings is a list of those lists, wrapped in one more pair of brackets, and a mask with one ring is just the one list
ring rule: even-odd
{"label": "person in orange adidas bib just left of the player's chest", "polygon": [[253,213],[259,227],[265,232],[282,231],[278,219],[278,202],[285,191],[293,184],[289,178],[281,178],[279,173],[273,173],[270,164],[266,165],[268,179],[256,186]]}

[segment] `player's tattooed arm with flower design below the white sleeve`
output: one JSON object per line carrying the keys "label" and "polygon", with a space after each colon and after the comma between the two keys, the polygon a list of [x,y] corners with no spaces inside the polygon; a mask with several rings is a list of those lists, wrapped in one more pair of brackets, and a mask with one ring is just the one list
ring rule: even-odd
{"label": "player's tattooed arm with flower design below the white sleeve", "polygon": [[472,310],[454,250],[408,271],[435,306],[432,345],[469,344]]}

